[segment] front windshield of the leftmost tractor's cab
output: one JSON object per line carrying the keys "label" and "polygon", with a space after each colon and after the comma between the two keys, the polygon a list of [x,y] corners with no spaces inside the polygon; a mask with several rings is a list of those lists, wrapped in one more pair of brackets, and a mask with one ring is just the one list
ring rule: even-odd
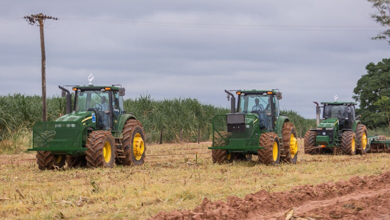
{"label": "front windshield of the leftmost tractor's cab", "polygon": [[109,91],[88,90],[77,92],[76,111],[92,110],[97,111],[108,110],[108,94]]}

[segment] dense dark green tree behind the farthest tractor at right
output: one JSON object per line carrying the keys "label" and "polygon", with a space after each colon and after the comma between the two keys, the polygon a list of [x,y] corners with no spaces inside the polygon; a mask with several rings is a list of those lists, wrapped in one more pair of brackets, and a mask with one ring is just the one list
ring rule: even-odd
{"label": "dense dark green tree behind the farthest tractor at right", "polygon": [[[374,104],[382,96],[390,97],[390,58],[378,63],[370,62],[365,66],[367,73],[362,75],[353,89],[353,99],[360,103],[357,113],[368,127],[382,127],[387,119],[381,106]],[[381,103],[381,102],[380,102]]]}

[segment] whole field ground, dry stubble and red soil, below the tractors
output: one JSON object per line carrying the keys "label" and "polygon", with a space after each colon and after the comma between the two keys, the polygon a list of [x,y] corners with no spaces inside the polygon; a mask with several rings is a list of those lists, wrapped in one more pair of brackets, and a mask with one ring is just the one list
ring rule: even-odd
{"label": "whole field ground, dry stubble and red soil, below the tractors", "polygon": [[298,142],[297,164],[276,166],[213,164],[209,142],[150,144],[143,165],[114,168],[42,171],[34,152],[1,154],[0,219],[390,219],[390,153],[307,155]]}

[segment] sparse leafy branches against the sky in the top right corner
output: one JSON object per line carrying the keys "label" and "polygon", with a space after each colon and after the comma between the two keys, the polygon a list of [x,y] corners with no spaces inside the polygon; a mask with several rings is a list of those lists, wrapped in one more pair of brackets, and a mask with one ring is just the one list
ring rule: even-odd
{"label": "sparse leafy branches against the sky in the top right corner", "polygon": [[[390,27],[390,0],[368,0],[372,3],[372,7],[376,8],[376,13],[371,14],[371,17],[381,26]],[[390,29],[380,32],[372,39],[386,40],[390,44]]]}

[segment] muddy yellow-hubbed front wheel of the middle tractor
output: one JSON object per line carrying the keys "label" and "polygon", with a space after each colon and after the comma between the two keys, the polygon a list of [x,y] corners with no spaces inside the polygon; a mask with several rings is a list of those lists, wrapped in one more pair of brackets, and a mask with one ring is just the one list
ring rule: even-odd
{"label": "muddy yellow-hubbed front wheel of the middle tractor", "polygon": [[258,162],[267,165],[276,165],[280,162],[280,144],[276,133],[262,133],[260,146],[264,149],[257,150]]}

